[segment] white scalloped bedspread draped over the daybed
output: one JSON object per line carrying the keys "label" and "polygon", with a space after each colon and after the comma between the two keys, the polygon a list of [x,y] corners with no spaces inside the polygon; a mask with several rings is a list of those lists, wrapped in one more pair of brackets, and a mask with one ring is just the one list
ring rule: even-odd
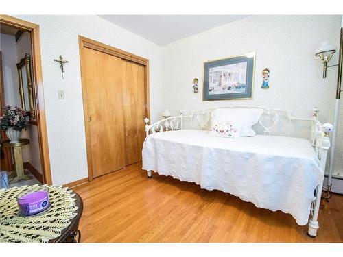
{"label": "white scalloped bedspread draped over the daybed", "polygon": [[143,169],[290,213],[299,225],[307,224],[314,190],[324,175],[309,140],[263,135],[220,138],[201,130],[147,136]]}

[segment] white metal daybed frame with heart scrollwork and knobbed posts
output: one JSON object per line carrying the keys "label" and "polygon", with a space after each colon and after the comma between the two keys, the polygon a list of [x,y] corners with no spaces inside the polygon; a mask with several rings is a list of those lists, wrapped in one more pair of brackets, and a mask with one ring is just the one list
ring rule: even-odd
{"label": "white metal daybed frame with heart scrollwork and knobbed posts", "polygon": [[[261,108],[261,107],[252,107],[252,106],[221,106],[219,108]],[[180,110],[180,115],[169,117],[167,119],[162,119],[157,121],[152,125],[149,125],[149,119],[145,118],[145,134],[154,134],[156,132],[162,132],[163,130],[183,130],[185,119],[190,119],[191,124],[193,125],[193,120],[198,122],[199,127],[204,130],[208,123],[210,122],[212,111],[216,108],[209,108],[205,110],[196,110],[192,111],[191,114],[185,115],[183,110]],[[330,138],[329,132],[333,130],[333,126],[329,123],[320,123],[317,118],[319,110],[314,108],[312,110],[313,116],[311,118],[297,118],[294,117],[289,110],[278,110],[270,108],[261,108],[263,109],[264,115],[259,119],[259,125],[263,129],[263,134],[269,135],[272,134],[272,131],[276,129],[276,125],[279,122],[279,113],[283,113],[283,116],[287,119],[288,127],[288,136],[290,136],[290,130],[293,124],[293,121],[308,121],[311,122],[311,134],[309,139],[313,145],[316,158],[318,159],[318,165],[322,169],[323,174],[325,173],[326,164],[327,164],[327,153],[330,148]],[[265,118],[269,118],[270,123],[267,123]],[[193,127],[192,127],[193,128]],[[152,177],[152,171],[147,171],[147,176]],[[324,180],[324,176],[323,176]],[[322,181],[323,182],[323,181]],[[322,182],[317,186],[315,191],[315,200],[311,206],[311,217],[309,219],[309,230],[307,234],[309,236],[316,236],[317,230],[319,228],[318,224],[318,212],[320,208],[320,199],[322,195]]]}

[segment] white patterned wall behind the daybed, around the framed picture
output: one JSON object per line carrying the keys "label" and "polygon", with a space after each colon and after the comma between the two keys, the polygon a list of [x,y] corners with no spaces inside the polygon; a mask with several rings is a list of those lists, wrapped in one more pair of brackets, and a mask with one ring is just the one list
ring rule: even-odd
{"label": "white patterned wall behind the daybed, around the framed picture", "polygon": [[[311,117],[320,109],[321,121],[333,123],[337,69],[322,78],[322,63],[314,56],[324,40],[339,46],[341,16],[249,16],[163,47],[163,109],[173,114],[226,105],[265,106],[293,110]],[[202,101],[203,63],[256,52],[252,100]],[[338,62],[335,54],[330,64]],[[261,71],[270,69],[270,88],[261,89]],[[193,78],[200,93],[193,93]],[[343,113],[343,105],[341,110]],[[342,127],[342,121],[340,123]],[[342,128],[335,171],[343,173]]]}

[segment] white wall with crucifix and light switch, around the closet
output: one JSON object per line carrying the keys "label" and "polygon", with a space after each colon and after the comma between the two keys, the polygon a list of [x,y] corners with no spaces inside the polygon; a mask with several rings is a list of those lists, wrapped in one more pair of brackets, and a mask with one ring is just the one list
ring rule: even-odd
{"label": "white wall with crucifix and light switch, around the closet", "polygon": [[[129,51],[150,60],[150,110],[158,118],[162,104],[162,49],[98,16],[16,16],[40,25],[45,108],[51,175],[54,184],[88,177],[80,77],[78,35]],[[54,58],[62,54],[65,79]],[[65,90],[66,99],[58,99]],[[158,97],[156,97],[158,96]]]}

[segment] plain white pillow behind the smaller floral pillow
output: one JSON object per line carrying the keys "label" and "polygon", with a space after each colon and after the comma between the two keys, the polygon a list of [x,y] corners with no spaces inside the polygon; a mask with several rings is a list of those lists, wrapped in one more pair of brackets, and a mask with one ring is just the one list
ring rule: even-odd
{"label": "plain white pillow behind the smaller floral pillow", "polygon": [[255,136],[252,126],[259,122],[263,109],[260,108],[218,108],[212,112],[212,125],[219,123],[244,123],[240,136]]}

